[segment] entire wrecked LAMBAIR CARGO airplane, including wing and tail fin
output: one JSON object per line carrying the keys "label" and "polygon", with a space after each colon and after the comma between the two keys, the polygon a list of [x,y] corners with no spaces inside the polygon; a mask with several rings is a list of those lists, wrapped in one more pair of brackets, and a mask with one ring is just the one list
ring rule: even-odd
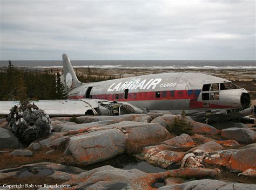
{"label": "entire wrecked LAMBAIR CARGO airplane, including wing and tail fin", "polygon": [[[168,110],[174,114],[186,110],[193,119],[219,121],[242,118],[253,112],[247,90],[226,79],[200,73],[162,73],[82,83],[68,56],[63,54],[62,58],[63,82],[69,100],[37,102],[50,116],[115,115],[122,112],[121,108],[137,107],[137,110]],[[119,103],[124,105],[119,107]],[[14,104],[1,101],[0,114],[8,114]]]}

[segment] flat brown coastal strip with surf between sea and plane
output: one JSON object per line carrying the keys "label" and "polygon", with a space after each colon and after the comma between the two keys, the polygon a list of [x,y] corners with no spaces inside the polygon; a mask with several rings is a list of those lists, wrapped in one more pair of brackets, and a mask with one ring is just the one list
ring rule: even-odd
{"label": "flat brown coastal strip with surf between sea and plane", "polygon": [[[0,66],[1,70],[5,70],[8,67]],[[52,71],[55,73],[62,73],[62,67],[16,67],[19,69],[28,69],[29,71]],[[86,76],[88,73],[88,67],[80,67],[75,66],[75,72],[78,75]],[[174,69],[174,68],[94,68],[90,67],[90,74],[92,76],[115,76],[115,78],[126,78],[130,76],[139,76],[139,75],[147,75],[147,74],[156,74],[156,73],[173,73],[173,72],[191,72],[191,73],[204,73],[208,75],[217,76],[220,78],[224,78],[230,81],[233,81],[238,86],[245,88],[249,91],[252,100],[256,100],[256,68],[253,69],[214,69],[214,68],[182,68],[182,69]],[[256,102],[255,102],[256,103]]]}

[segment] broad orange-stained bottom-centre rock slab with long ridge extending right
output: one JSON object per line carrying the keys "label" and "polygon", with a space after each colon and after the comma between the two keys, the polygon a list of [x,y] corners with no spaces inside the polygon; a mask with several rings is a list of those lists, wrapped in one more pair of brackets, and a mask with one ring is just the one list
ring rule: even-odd
{"label": "broad orange-stained bottom-centre rock slab with long ridge extending right", "polygon": [[160,173],[145,173],[137,169],[122,170],[112,166],[98,167],[80,173],[76,178],[65,182],[73,189],[153,189],[157,179],[166,177],[205,178],[215,177],[212,169],[182,168]]}

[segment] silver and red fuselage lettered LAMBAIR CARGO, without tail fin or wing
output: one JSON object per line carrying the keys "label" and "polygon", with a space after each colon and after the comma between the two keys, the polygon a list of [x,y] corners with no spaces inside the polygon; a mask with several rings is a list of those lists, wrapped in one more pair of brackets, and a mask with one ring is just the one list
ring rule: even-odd
{"label": "silver and red fuselage lettered LAMBAIR CARGO, without tail fin or wing", "polygon": [[215,76],[163,73],[85,83],[70,90],[69,98],[127,101],[149,110],[235,110],[250,107],[250,97],[247,102],[242,99],[246,94],[245,89]]}

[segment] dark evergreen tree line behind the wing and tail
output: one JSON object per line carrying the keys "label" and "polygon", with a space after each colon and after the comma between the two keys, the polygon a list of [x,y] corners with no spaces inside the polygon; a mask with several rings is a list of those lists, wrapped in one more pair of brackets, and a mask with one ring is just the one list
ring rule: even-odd
{"label": "dark evergreen tree line behind the wing and tail", "polygon": [[[116,76],[92,75],[90,67],[86,75],[77,74],[81,82],[98,82],[115,79]],[[31,71],[16,68],[9,61],[7,69],[0,71],[0,100],[64,100],[67,98],[59,72],[52,69]]]}

